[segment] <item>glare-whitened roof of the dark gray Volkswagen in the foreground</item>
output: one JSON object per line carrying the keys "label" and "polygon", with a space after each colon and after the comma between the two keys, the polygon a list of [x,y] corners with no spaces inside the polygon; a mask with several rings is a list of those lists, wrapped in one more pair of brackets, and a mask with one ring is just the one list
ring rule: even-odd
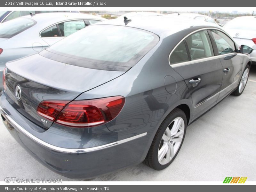
{"label": "glare-whitened roof of the dark gray Volkswagen in the foreground", "polygon": [[[130,22],[124,19],[113,19],[96,23],[95,25],[119,25],[144,29],[160,37],[170,36],[176,32],[191,28],[218,28],[215,24],[204,21],[188,20],[176,17],[129,17]],[[220,29],[220,28],[219,28]]]}

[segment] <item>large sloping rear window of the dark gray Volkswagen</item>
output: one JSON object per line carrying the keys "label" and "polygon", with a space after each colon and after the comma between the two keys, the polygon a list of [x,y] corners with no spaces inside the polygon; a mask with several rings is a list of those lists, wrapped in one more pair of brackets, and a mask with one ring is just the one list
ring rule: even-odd
{"label": "large sloping rear window of the dark gray Volkswagen", "polygon": [[94,25],[68,36],[46,50],[78,60],[132,67],[158,41],[157,35],[145,30]]}

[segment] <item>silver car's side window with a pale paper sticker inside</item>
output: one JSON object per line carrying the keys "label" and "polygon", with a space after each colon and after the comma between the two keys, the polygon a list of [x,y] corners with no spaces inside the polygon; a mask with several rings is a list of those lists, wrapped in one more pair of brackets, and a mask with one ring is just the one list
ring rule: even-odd
{"label": "silver car's side window with a pale paper sticker inside", "polygon": [[82,28],[85,28],[84,20],[67,21],[58,24],[61,36],[69,36]]}

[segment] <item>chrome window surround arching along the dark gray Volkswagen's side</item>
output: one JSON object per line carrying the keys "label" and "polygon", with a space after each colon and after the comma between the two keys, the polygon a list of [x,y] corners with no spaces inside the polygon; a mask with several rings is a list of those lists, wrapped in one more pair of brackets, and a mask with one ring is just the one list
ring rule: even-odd
{"label": "chrome window surround arching along the dark gray Volkswagen's side", "polygon": [[[182,41],[184,41],[184,39],[186,39],[188,36],[196,33],[196,32],[199,32],[199,31],[204,31],[204,30],[218,30],[222,33],[224,33],[225,35],[227,35],[235,44],[235,48],[236,48],[236,43],[235,41],[233,40],[233,38],[231,36],[229,36],[225,31],[221,30],[220,28],[214,28],[214,27],[208,27],[208,28],[201,28],[201,29],[197,29],[191,33],[189,33],[188,35],[186,35],[185,37],[183,37],[183,39],[180,40],[180,42],[178,44],[175,45],[175,47],[172,49],[172,51],[170,52],[169,54],[169,57],[168,57],[168,62],[169,62],[169,65],[171,67],[180,67],[180,66],[183,66],[183,65],[189,65],[189,64],[193,64],[193,63],[197,63],[197,62],[202,62],[202,61],[207,61],[207,60],[212,60],[212,59],[217,59],[217,58],[220,58],[222,56],[229,56],[229,55],[232,55],[232,54],[237,54],[237,52],[232,52],[232,53],[226,53],[226,54],[222,54],[222,55],[214,55],[214,56],[211,56],[211,57],[205,57],[205,58],[201,58],[201,59],[195,59],[195,60],[191,60],[191,61],[184,61],[184,62],[179,62],[179,63],[174,63],[174,64],[171,64],[170,63],[170,58],[171,58],[171,54],[172,52],[180,45],[180,43]],[[236,48],[237,49],[237,48]],[[179,65],[181,64],[181,65]]]}

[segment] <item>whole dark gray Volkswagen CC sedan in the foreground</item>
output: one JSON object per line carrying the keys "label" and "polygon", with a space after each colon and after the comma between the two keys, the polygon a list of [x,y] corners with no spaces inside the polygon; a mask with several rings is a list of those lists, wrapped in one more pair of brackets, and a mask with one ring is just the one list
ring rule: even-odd
{"label": "whole dark gray Volkswagen CC sedan in the foreground", "polygon": [[196,21],[100,22],[7,63],[1,117],[32,156],[70,178],[143,161],[161,170],[188,124],[243,92],[250,52]]}

